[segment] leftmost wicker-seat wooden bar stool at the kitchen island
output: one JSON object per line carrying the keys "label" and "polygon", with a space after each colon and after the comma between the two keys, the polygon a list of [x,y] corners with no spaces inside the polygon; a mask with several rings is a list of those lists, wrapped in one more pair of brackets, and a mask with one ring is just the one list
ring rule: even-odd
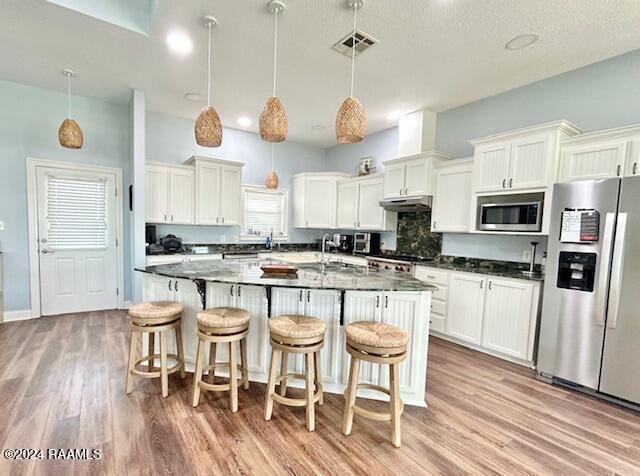
{"label": "leftmost wicker-seat wooden bar stool at the kitchen island", "polygon": [[[149,301],[136,304],[129,309],[131,340],[129,342],[129,365],[127,367],[127,395],[133,390],[133,377],[158,378],[162,385],[162,396],[169,395],[169,375],[180,371],[184,378],[184,353],[182,349],[182,310],[183,306],[174,301]],[[177,354],[167,353],[167,331],[176,333]],[[136,333],[149,335],[149,353],[136,360]],[[160,337],[160,353],[155,353],[155,333]],[[155,360],[160,359],[160,367]],[[174,361],[169,367],[168,360]],[[143,362],[147,362],[146,370]]]}

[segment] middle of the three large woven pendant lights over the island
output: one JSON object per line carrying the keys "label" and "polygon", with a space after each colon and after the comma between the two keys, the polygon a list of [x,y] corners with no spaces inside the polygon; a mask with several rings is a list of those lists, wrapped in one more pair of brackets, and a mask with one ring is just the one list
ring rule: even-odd
{"label": "middle of the three large woven pendant lights over the island", "polygon": [[271,0],[268,4],[273,15],[273,94],[267,99],[262,114],[260,114],[260,137],[267,142],[282,142],[287,138],[289,123],[287,111],[280,98],[276,96],[276,78],[278,61],[278,14],[284,11],[284,2]]}

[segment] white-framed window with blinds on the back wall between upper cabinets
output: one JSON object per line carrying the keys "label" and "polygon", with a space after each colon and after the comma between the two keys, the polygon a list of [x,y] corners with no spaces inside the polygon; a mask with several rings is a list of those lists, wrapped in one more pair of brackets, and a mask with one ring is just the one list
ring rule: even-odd
{"label": "white-framed window with blinds on the back wall between upper cabinets", "polygon": [[242,188],[243,240],[262,240],[273,232],[274,240],[287,240],[289,193],[264,187]]}

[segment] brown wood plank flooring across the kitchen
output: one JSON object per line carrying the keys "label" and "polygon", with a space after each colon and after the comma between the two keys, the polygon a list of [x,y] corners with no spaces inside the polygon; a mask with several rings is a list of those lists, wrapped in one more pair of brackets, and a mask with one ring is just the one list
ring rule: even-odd
{"label": "brown wood plank flooring across the kitchen", "polygon": [[[0,324],[0,446],[99,448],[87,461],[8,461],[0,474],[638,474],[640,413],[539,382],[534,372],[431,339],[429,408],[406,407],[402,447],[387,423],[355,417],[327,394],[316,431],[303,408],[265,386],[190,405],[192,376],[136,379],[125,395],[129,331],[120,311]],[[249,350],[250,351],[250,350]],[[375,408],[379,403],[367,403]]]}

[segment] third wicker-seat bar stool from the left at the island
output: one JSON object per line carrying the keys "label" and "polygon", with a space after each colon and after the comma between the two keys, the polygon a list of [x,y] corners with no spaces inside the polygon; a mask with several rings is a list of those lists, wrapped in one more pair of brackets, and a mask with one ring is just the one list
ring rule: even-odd
{"label": "third wicker-seat bar stool from the left at the island", "polygon": [[[324,332],[327,326],[321,319],[308,316],[278,316],[269,320],[271,342],[271,361],[269,363],[269,381],[265,401],[264,419],[271,420],[273,402],[293,407],[307,407],[307,430],[316,427],[315,403],[323,403],[322,372],[320,368],[320,349],[324,345]],[[280,353],[280,375],[277,373],[277,353]],[[289,354],[304,355],[304,374],[288,373]],[[305,380],[305,398],[286,396],[287,378]],[[280,383],[280,393],[276,393],[276,383]]]}

